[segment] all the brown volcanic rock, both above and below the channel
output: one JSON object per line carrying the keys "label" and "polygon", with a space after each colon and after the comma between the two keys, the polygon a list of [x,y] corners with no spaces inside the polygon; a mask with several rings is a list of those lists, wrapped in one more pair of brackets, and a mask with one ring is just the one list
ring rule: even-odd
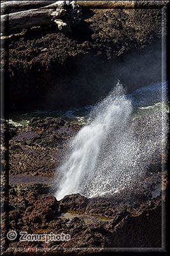
{"label": "all the brown volcanic rock, both above and below the channel", "polygon": [[[9,90],[6,86],[4,91],[10,94],[6,113],[9,109],[93,104],[120,78],[128,92],[161,81],[162,38],[166,35],[161,8],[81,9],[80,24],[71,25],[71,33],[63,33],[55,26],[41,26],[10,35],[8,42],[3,39],[1,71],[4,81],[9,82]],[[136,125],[145,127],[145,118]],[[4,255],[90,255],[111,248],[114,252],[122,252],[122,248],[164,252],[162,227],[169,173],[162,173],[162,164],[166,166],[167,156],[153,159],[145,177],[133,180],[121,193],[97,198],[74,194],[60,201],[53,196],[60,180],[57,167],[81,127],[52,117],[32,118],[24,127],[1,120]],[[152,128],[148,129],[148,136],[155,132]],[[140,135],[137,131],[139,139]],[[17,176],[27,176],[30,182],[9,184],[10,177],[17,180]],[[35,177],[49,180],[34,182]],[[15,230],[17,238],[7,239],[8,230]],[[64,232],[71,239],[49,243],[20,241],[20,231]]]}

